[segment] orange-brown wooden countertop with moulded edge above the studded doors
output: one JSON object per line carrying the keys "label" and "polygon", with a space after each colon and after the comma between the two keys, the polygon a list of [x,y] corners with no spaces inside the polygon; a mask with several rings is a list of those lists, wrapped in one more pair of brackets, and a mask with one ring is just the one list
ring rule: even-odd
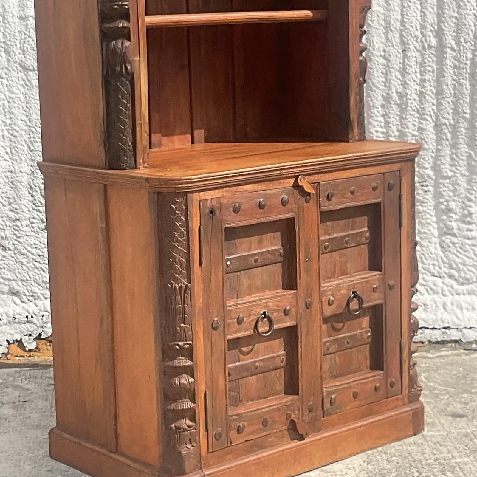
{"label": "orange-brown wooden countertop with moulded edge above the studded doors", "polygon": [[152,150],[149,167],[113,171],[40,163],[43,173],[98,176],[161,191],[193,191],[278,180],[414,159],[421,145],[354,143],[209,143]]}

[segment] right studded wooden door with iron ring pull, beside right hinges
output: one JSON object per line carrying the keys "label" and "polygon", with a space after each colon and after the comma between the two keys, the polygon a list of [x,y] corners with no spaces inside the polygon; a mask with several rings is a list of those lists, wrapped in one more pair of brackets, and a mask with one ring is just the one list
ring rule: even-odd
{"label": "right studded wooden door with iron ring pull, beside right hinges", "polygon": [[401,394],[400,175],[319,184],[323,412]]}

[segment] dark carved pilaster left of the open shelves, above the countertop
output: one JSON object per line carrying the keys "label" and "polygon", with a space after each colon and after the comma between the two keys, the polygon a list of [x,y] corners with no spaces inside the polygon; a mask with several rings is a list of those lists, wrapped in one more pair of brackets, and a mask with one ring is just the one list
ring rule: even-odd
{"label": "dark carved pilaster left of the open shelves, above the countertop", "polygon": [[105,101],[105,148],[109,169],[134,169],[133,65],[129,1],[99,0]]}

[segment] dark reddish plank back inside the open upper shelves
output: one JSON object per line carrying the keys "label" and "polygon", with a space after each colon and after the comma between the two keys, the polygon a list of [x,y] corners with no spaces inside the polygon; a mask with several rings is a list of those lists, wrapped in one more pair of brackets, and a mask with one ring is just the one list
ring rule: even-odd
{"label": "dark reddish plank back inside the open upper shelves", "polygon": [[[149,16],[296,9],[326,1],[146,3]],[[326,141],[326,44],[326,21],[148,28],[150,148]]]}

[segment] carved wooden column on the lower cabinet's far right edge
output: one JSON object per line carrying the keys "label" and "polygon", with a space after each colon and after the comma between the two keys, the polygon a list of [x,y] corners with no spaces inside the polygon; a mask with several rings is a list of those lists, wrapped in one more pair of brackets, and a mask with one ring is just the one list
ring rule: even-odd
{"label": "carved wooden column on the lower cabinet's far right edge", "polygon": [[422,392],[422,386],[419,384],[417,379],[417,368],[416,360],[413,357],[413,354],[417,351],[417,344],[413,342],[415,334],[419,330],[419,321],[413,315],[417,310],[418,306],[415,301],[413,301],[414,295],[417,293],[416,285],[419,281],[419,264],[417,262],[417,241],[415,239],[415,178],[414,178],[414,168],[413,168],[413,179],[412,179],[412,202],[411,202],[411,228],[412,228],[412,242],[414,245],[413,255],[411,257],[411,270],[412,270],[412,280],[411,280],[411,304],[410,304],[410,321],[409,321],[409,402],[413,403],[419,400]]}

